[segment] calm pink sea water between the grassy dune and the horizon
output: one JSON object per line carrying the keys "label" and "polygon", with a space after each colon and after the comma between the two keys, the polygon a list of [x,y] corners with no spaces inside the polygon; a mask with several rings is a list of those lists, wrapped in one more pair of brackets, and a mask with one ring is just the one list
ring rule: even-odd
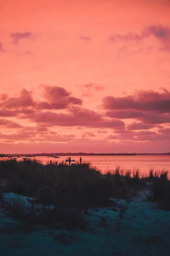
{"label": "calm pink sea water between the grassy dune and the horizon", "polygon": [[[52,157],[36,157],[46,164],[47,161],[63,161],[68,156],[60,156],[60,158]],[[71,160],[79,161],[80,156],[71,156]],[[150,167],[154,169],[163,169],[170,171],[170,156],[150,155],[150,156],[82,156],[82,162],[91,162],[102,172],[107,169],[112,170],[116,164],[122,168],[133,170],[135,167],[139,168],[142,173],[149,171]]]}

